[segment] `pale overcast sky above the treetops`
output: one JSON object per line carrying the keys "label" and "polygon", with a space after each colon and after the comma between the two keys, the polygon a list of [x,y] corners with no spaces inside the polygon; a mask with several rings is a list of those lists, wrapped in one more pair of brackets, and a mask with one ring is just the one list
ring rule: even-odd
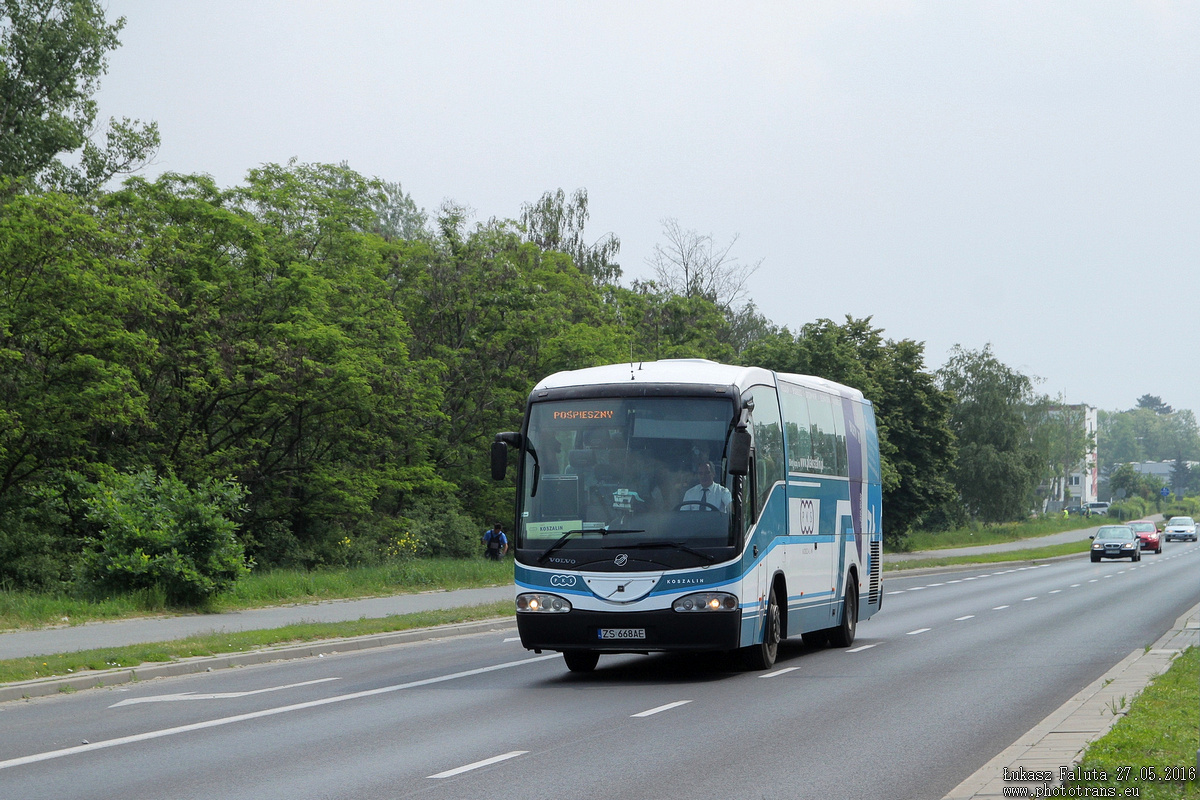
{"label": "pale overcast sky above the treetops", "polygon": [[478,221],[586,188],[653,277],[662,219],[762,259],[798,330],[991,344],[1039,390],[1200,413],[1198,2],[108,0],[103,118],[233,186],[348,162]]}

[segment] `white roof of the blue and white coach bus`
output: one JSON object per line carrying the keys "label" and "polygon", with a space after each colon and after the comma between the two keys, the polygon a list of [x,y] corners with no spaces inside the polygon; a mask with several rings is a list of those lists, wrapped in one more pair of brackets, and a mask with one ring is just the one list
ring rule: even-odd
{"label": "white roof of the blue and white coach bus", "polygon": [[[862,401],[863,392],[850,386],[816,378],[779,373],[779,380],[808,386],[820,391]],[[534,386],[534,391],[565,389],[569,386],[596,386],[601,384],[703,384],[713,386],[738,386],[746,389],[755,384],[775,385],[776,375],[761,367],[737,367],[707,359],[664,359],[661,361],[634,361],[604,367],[588,367],[569,372],[556,372]]]}

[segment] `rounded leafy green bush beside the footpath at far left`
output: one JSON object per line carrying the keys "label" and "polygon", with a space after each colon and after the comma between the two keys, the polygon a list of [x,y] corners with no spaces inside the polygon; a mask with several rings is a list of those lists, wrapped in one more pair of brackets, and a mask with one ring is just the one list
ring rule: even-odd
{"label": "rounded leafy green bush beside the footpath at far left", "polygon": [[250,571],[234,517],[245,489],[209,479],[190,489],[174,476],[118,473],[92,485],[89,539],[79,582],[100,591],[161,591],[173,604],[198,606]]}

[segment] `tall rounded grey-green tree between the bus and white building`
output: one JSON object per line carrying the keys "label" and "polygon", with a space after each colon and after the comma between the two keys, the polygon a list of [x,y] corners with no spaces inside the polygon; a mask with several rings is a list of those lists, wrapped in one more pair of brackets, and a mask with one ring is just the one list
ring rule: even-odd
{"label": "tall rounded grey-green tree between the bus and white building", "polygon": [[954,395],[954,485],[967,512],[983,522],[1024,518],[1046,468],[1034,440],[1033,381],[996,359],[991,345],[955,345],[937,377]]}

